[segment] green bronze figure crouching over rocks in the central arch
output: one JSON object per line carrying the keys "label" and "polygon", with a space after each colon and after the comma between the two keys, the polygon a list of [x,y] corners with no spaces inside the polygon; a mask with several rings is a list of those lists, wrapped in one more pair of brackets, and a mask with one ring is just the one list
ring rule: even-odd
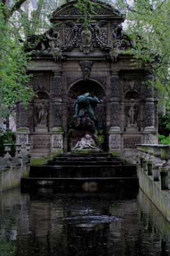
{"label": "green bronze figure crouching over rocks in the central arch", "polygon": [[87,92],[83,95],[77,97],[75,106],[75,115],[76,117],[84,117],[85,113],[88,113],[90,118],[94,121],[96,127],[98,127],[98,121],[94,114],[94,109],[97,106],[97,103],[101,104],[103,101],[97,97],[91,97],[90,93]]}

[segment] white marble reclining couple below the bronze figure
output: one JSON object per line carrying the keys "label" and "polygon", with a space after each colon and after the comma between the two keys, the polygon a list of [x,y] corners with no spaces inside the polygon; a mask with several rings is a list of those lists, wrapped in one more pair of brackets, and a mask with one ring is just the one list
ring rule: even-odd
{"label": "white marble reclining couple below the bronze figure", "polygon": [[89,134],[86,134],[85,137],[81,138],[80,141],[78,141],[73,149],[94,149],[97,151],[100,151],[99,148],[95,147],[95,142],[92,139],[92,136]]}

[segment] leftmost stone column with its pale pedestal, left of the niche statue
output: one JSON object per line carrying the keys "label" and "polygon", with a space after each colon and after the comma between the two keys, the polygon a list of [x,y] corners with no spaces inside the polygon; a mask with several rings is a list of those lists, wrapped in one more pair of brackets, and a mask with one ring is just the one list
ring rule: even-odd
{"label": "leftmost stone column with its pale pedestal, left of the niche statue", "polygon": [[17,138],[16,143],[21,144],[22,148],[25,144],[30,143],[30,131],[28,120],[28,109],[24,108],[22,102],[17,103]]}

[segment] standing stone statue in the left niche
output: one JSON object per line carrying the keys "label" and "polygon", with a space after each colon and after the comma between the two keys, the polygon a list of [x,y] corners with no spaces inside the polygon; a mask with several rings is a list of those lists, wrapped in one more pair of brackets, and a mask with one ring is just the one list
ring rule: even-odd
{"label": "standing stone statue in the left niche", "polygon": [[45,103],[45,99],[41,100],[37,107],[38,124],[47,125],[48,108]]}

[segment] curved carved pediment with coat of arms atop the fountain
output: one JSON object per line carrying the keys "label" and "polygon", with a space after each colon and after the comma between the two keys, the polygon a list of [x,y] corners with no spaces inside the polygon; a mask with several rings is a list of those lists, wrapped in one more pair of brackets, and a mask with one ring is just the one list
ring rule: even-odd
{"label": "curved carved pediment with coat of arms atop the fountain", "polygon": [[28,44],[33,44],[34,49],[41,51],[41,54],[52,54],[55,60],[60,60],[62,52],[73,49],[83,54],[100,49],[110,53],[110,58],[116,61],[122,51],[133,46],[133,42],[120,25],[124,17],[110,5],[96,3],[100,8],[96,8],[95,21],[88,25],[88,29],[84,29],[78,21],[78,9],[74,6],[76,1],[71,1],[53,13],[52,28],[46,31],[41,42],[30,38]]}

